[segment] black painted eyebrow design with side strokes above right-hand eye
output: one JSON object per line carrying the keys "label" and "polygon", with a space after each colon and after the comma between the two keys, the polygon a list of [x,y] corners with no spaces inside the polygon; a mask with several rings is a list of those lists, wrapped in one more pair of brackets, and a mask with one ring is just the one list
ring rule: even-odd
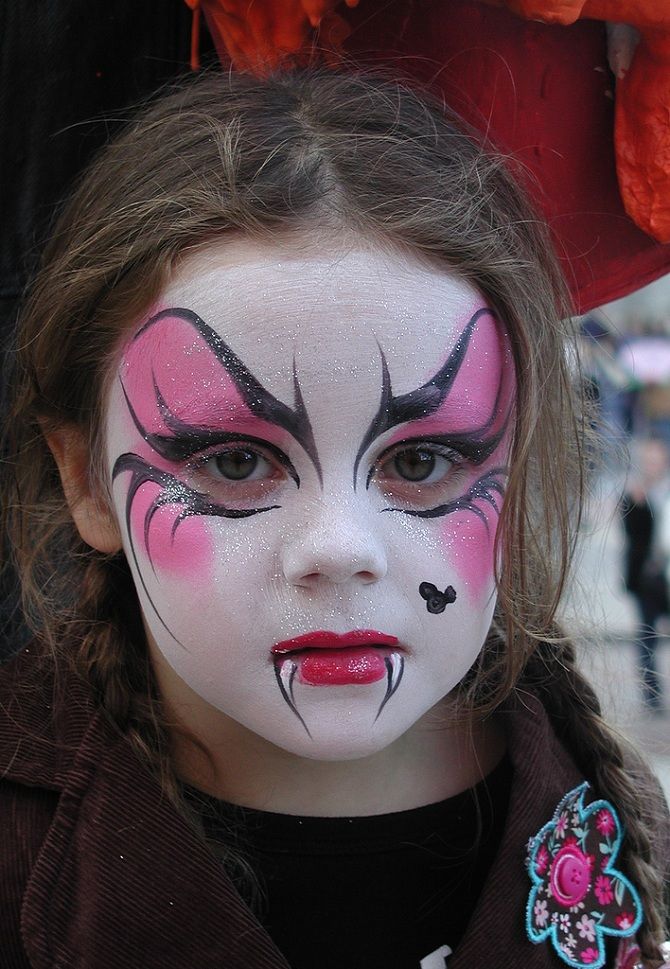
{"label": "black painted eyebrow design with side strokes above right-hand eye", "polygon": [[[361,446],[359,447],[356,455],[356,461],[354,464],[354,488],[356,487],[359,464],[363,458],[363,455],[373,441],[375,441],[382,434],[385,434],[387,431],[391,430],[391,428],[397,427],[398,424],[415,421],[422,417],[429,417],[431,414],[434,414],[435,411],[438,410],[438,408],[442,405],[445,398],[449,394],[449,391],[451,390],[454,380],[458,376],[463,361],[465,360],[474,328],[482,316],[487,314],[494,319],[497,319],[495,314],[488,307],[477,310],[477,312],[470,317],[470,320],[463,329],[453,350],[449,354],[449,357],[443,366],[433,377],[430,378],[430,380],[427,380],[425,384],[422,384],[421,387],[417,387],[416,390],[412,390],[407,394],[400,394],[397,397],[393,396],[393,391],[391,388],[391,375],[389,373],[384,351],[380,348],[379,352],[382,363],[381,399],[379,402],[379,407],[377,408],[377,413],[370,422],[370,426],[365,433]],[[473,456],[476,458],[479,455],[480,461],[485,460],[487,453],[490,454],[493,452],[493,450],[495,450],[495,447],[499,443],[503,434],[503,431],[501,431],[499,434],[493,435],[488,440],[482,437],[482,435],[484,435],[493,424],[497,411],[497,405],[500,399],[500,392],[501,388],[498,388],[496,406],[494,407],[493,414],[491,415],[491,418],[483,425],[483,427],[470,434],[456,433],[453,435],[446,435],[444,442],[450,444],[458,443],[463,448],[467,446],[468,442],[471,442],[470,449]],[[426,439],[430,439],[431,441],[437,440],[437,438],[432,434],[426,435]],[[475,463],[477,462],[475,461]]]}

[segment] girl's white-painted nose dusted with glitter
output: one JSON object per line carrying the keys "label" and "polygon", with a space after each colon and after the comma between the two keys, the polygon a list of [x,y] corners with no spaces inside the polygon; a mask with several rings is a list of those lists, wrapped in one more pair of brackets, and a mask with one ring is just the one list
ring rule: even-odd
{"label": "girl's white-painted nose dusted with glitter", "polygon": [[328,582],[367,585],[382,579],[386,552],[371,525],[354,518],[351,508],[320,506],[313,518],[297,526],[283,549],[287,581],[308,589]]}

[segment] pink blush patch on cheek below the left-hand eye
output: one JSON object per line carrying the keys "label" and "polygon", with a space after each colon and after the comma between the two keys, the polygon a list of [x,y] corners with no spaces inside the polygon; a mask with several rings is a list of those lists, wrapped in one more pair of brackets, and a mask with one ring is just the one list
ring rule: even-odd
{"label": "pink blush patch on cheek below the left-hand eye", "polygon": [[[151,515],[153,502],[161,492],[159,486],[147,483],[135,495],[130,513],[135,549],[144,551],[156,571],[172,575],[188,576],[211,567],[214,549],[207,522],[202,516],[193,515],[180,521],[173,534],[184,506],[163,505]],[[151,521],[145,544],[147,515],[151,515]]]}

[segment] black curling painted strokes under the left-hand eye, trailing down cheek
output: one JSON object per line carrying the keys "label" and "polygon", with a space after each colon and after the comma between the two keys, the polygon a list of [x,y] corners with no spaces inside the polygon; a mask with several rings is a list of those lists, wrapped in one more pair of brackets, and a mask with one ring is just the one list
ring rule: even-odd
{"label": "black curling painted strokes under the left-hand eye, trailing down cheek", "polygon": [[160,468],[156,468],[154,465],[149,464],[137,454],[126,453],[120,455],[120,457],[116,459],[114,468],[112,470],[112,481],[115,481],[120,474],[123,474],[126,471],[130,471],[131,478],[130,485],[128,486],[128,493],[126,495],[125,521],[126,530],[128,532],[128,541],[130,543],[135,568],[140,578],[140,582],[142,583],[142,588],[144,589],[146,597],[151,604],[151,608],[158,616],[161,625],[176,643],[183,646],[183,643],[179,642],[156,608],[137,559],[135,540],[130,521],[133,502],[137,492],[145,484],[156,484],[161,489],[147,508],[144,515],[144,548],[149,558],[149,562],[151,562],[151,567],[154,570],[154,574],[156,573],[156,569],[151,559],[149,532],[154,515],[160,508],[165,508],[168,505],[182,506],[181,511],[178,513],[172,524],[171,536],[174,539],[179,525],[187,518],[191,518],[194,515],[206,515],[217,518],[249,518],[251,515],[258,515],[264,511],[272,511],[274,508],[278,508],[279,506],[268,505],[265,508],[245,509],[226,508],[223,505],[219,505],[216,502],[211,501],[206,495],[202,495],[200,492],[194,491],[193,488],[190,488],[188,485],[184,484],[183,481],[180,481],[168,471],[161,471]]}

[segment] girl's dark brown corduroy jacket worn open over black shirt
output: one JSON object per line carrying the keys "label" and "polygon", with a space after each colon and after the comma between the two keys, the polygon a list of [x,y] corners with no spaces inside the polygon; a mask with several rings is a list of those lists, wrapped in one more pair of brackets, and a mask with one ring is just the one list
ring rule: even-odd
{"label": "girl's dark brown corduroy jacket worn open over black shirt", "polygon": [[[0,969],[288,969],[83,685],[57,695],[34,649],[0,669]],[[526,936],[526,846],[582,777],[535,698],[506,717],[507,824],[449,969],[563,965]]]}

